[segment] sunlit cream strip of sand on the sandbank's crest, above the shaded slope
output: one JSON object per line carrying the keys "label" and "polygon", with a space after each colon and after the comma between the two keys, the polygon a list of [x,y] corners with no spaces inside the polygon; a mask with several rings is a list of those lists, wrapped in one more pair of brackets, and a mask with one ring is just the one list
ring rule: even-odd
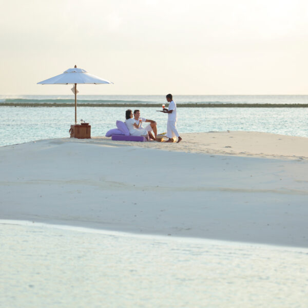
{"label": "sunlit cream strip of sand on the sandbank's crest, above the shaded slope", "polygon": [[182,134],[182,137],[183,142],[172,147],[160,142],[148,144],[111,141],[111,138],[106,137],[94,138],[94,140],[104,144],[137,145],[190,153],[308,160],[308,139],[304,137],[249,131],[197,132]]}

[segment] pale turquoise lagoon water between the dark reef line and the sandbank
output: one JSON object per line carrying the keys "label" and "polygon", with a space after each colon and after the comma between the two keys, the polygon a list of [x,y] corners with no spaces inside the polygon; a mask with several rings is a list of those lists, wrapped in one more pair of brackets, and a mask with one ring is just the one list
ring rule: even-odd
{"label": "pale turquoise lagoon water between the dark reef line and the sandbank", "polygon": [[[105,136],[124,121],[127,107],[78,107],[77,119],[89,122],[91,136]],[[155,120],[158,132],[166,131],[167,115],[144,107],[141,116]],[[0,146],[39,139],[69,137],[73,107],[1,106]],[[178,108],[180,133],[204,131],[261,131],[308,137],[308,108]]]}

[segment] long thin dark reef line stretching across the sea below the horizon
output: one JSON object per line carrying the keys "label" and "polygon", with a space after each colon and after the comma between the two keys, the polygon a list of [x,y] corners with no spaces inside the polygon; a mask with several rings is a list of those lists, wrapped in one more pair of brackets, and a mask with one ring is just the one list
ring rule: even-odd
{"label": "long thin dark reef line stretching across the sea below the horizon", "polygon": [[[78,104],[79,107],[126,107],[126,108],[140,108],[140,107],[155,107],[160,109],[161,105],[159,104]],[[9,106],[9,107],[73,107],[74,104],[71,103],[0,103],[0,106]],[[308,104],[233,104],[233,103],[189,103],[189,104],[177,104],[177,107],[188,107],[188,108],[307,108]]]}

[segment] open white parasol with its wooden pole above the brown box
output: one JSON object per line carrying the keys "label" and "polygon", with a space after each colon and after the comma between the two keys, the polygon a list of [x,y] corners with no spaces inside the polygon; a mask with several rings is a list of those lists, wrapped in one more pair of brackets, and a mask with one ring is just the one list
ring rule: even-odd
{"label": "open white parasol with its wooden pole above the brown box", "polygon": [[63,74],[56,75],[49,79],[37,83],[38,85],[74,85],[75,92],[75,124],[77,124],[77,84],[112,84],[112,82],[104,80],[98,76],[89,74],[82,68],[69,68]]}

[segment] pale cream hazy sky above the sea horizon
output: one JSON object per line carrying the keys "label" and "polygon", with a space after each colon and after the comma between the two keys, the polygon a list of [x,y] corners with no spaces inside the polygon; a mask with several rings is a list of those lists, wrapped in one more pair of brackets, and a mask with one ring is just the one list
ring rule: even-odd
{"label": "pale cream hazy sky above the sea horizon", "polygon": [[307,0],[0,0],[0,95],[308,94]]}

